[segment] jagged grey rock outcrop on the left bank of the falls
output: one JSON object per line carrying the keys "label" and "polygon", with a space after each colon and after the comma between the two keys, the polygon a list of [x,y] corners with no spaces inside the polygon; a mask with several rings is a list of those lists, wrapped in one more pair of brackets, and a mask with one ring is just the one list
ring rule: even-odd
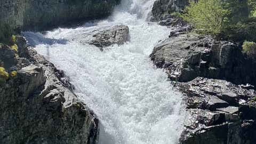
{"label": "jagged grey rock outcrop on the left bank of the falls", "polygon": [[[0,143],[95,143],[93,111],[72,92],[62,71],[27,46],[25,38],[16,39],[18,53],[0,46],[9,73],[0,81]],[[13,62],[5,65],[6,60]]]}

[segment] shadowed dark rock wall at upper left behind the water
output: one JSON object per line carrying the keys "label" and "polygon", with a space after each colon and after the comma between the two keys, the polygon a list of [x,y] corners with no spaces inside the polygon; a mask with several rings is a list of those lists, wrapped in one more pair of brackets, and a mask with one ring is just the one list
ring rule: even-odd
{"label": "shadowed dark rock wall at upper left behind the water", "polygon": [[0,0],[0,38],[7,35],[7,29],[8,33],[19,33],[21,29],[40,30],[68,21],[105,17],[117,3],[119,0]]}

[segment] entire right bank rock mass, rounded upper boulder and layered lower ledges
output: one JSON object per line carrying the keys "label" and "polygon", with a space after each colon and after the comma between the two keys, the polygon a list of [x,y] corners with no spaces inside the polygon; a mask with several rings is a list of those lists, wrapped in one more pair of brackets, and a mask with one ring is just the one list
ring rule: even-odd
{"label": "entire right bank rock mass, rounded upper boulder and layered lower ledges", "polygon": [[237,43],[186,34],[187,29],[172,29],[150,54],[186,95],[188,119],[180,143],[255,143],[255,60]]}

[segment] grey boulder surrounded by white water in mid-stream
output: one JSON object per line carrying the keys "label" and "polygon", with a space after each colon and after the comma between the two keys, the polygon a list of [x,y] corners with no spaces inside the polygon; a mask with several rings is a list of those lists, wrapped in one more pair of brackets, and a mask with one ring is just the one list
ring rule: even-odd
{"label": "grey boulder surrounded by white water in mid-stream", "polygon": [[129,28],[124,25],[108,27],[107,29],[99,30],[92,35],[92,40],[89,44],[97,47],[105,47],[113,44],[122,45],[129,41]]}

